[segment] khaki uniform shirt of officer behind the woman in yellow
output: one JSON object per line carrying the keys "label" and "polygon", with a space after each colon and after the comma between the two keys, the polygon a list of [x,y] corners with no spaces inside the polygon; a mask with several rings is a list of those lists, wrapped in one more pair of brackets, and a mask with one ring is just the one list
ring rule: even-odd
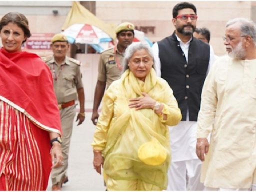
{"label": "khaki uniform shirt of officer behind the woman in yellow", "polygon": [[[109,48],[100,54],[98,62],[98,80],[106,82],[106,88],[116,79],[122,72],[123,54],[114,48]],[[118,63],[121,68],[118,67]]]}

